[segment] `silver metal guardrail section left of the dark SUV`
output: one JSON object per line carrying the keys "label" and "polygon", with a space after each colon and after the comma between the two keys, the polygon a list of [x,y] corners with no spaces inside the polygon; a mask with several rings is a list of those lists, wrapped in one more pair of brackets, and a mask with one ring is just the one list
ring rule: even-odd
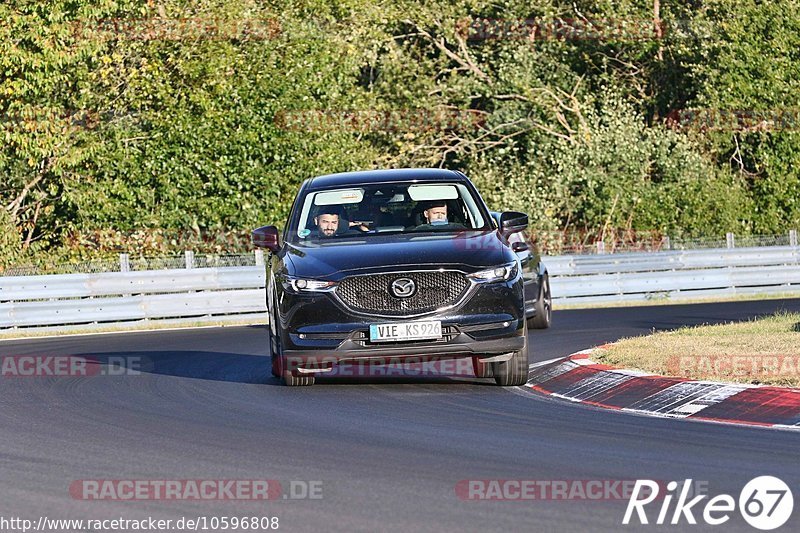
{"label": "silver metal guardrail section left of the dark SUV", "polygon": [[0,330],[151,319],[264,318],[263,266],[0,278]]}

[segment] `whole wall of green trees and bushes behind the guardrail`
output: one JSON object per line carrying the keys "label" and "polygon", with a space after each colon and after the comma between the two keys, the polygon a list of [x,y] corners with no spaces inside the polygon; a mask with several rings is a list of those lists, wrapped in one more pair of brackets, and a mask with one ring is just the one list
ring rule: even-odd
{"label": "whole wall of green trees and bushes behind the guardrail", "polygon": [[[655,32],[652,18],[635,2],[10,0],[2,261],[91,255],[71,236],[98,229],[281,224],[302,180],[391,166],[462,169],[493,208],[527,211],[539,229],[797,227],[797,124],[664,123],[679,109],[796,106],[796,1],[665,4],[660,36],[625,37]],[[476,39],[479,19],[627,29]],[[317,127],[325,110],[392,118]],[[414,122],[467,111],[481,120]],[[287,126],[287,113],[301,120]]]}

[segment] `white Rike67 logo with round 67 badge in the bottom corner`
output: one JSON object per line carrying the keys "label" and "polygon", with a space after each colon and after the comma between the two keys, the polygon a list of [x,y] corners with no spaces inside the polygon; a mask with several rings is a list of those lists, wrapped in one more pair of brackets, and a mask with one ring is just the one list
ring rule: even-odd
{"label": "white Rike67 logo with round 67 badge in the bottom corner", "polygon": [[[701,494],[689,499],[689,488],[692,480],[687,479],[677,494],[678,482],[667,483],[666,493],[661,494],[661,485],[650,479],[636,480],[633,494],[628,500],[625,509],[623,524],[630,524],[635,516],[640,524],[649,524],[645,507],[656,499],[661,500],[661,508],[655,523],[662,524],[697,524],[695,513],[702,516],[706,524],[718,526],[726,523],[731,518],[731,513],[736,510],[737,502],[729,494],[714,496],[701,505],[708,497]],[[675,507],[671,509],[674,496],[678,496]],[[696,507],[696,508],[695,508]],[[742,489],[738,500],[739,512],[742,518],[756,529],[768,531],[779,528],[789,520],[794,508],[794,498],[789,486],[782,480],[773,476],[759,476],[751,479]],[[702,509],[702,511],[701,511]],[[670,513],[670,511],[672,511]],[[652,518],[652,516],[650,517]],[[635,523],[635,522],[634,522]]]}

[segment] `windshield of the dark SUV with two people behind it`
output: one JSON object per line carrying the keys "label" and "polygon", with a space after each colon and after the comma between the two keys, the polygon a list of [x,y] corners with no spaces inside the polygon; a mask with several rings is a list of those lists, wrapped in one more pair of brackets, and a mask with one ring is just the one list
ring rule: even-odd
{"label": "windshield of the dark SUV with two people behind it", "polygon": [[382,183],[309,192],[292,240],[317,242],[386,233],[459,232],[490,222],[463,183]]}

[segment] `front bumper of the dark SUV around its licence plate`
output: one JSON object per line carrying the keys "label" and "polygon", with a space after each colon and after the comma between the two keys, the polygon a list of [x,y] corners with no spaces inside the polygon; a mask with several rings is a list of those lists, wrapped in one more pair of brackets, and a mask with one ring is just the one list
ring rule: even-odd
{"label": "front bumper of the dark SUV around its licence plate", "polygon": [[[391,364],[475,357],[502,360],[525,346],[522,278],[484,284],[457,307],[424,317],[365,317],[330,294],[284,293],[280,335],[288,368],[324,372],[342,363]],[[439,320],[435,341],[371,343],[374,323]]]}

